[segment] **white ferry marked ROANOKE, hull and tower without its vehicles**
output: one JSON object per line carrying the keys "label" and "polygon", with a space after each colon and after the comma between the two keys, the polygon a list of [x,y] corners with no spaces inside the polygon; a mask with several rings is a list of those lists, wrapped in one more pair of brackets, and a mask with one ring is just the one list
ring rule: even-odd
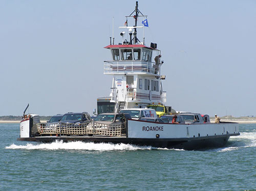
{"label": "white ferry marked ROANOKE, hull and tower without its vehicles", "polygon": [[[128,25],[130,18],[135,21],[135,25],[132,24],[131,27]],[[142,26],[138,23],[142,23]],[[125,26],[120,27],[122,42],[115,44],[114,38],[110,38],[110,44],[105,46],[105,49],[110,50],[112,60],[104,61],[104,74],[112,75],[113,81],[110,97],[98,98],[98,114],[114,112],[113,119],[116,120],[120,110],[143,110],[148,105],[166,103],[166,92],[163,91],[161,83],[165,80],[165,76],[161,75],[161,51],[154,42],[147,46],[144,36],[141,41],[138,38],[138,30],[144,31],[146,26],[147,16],[139,11],[136,2],[135,10],[126,16]],[[20,123],[18,140],[113,142],[193,150],[223,147],[230,136],[240,135],[238,123],[172,124],[120,116],[118,123],[113,121],[109,125],[99,121],[88,121],[74,125],[58,123],[53,127],[23,120]]]}

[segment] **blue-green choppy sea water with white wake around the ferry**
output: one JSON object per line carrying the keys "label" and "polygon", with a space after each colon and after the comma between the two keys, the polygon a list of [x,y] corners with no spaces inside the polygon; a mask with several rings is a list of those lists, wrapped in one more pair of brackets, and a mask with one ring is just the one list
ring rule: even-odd
{"label": "blue-green choppy sea water with white wake around the ferry", "polygon": [[0,124],[0,190],[256,190],[256,124],[224,148],[17,141]]}

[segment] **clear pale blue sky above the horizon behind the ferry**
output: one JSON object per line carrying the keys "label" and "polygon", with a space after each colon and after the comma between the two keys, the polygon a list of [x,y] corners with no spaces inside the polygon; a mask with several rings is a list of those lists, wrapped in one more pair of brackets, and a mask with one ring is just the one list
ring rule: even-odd
{"label": "clear pale blue sky above the horizon behind the ferry", "polygon": [[[87,111],[109,96],[103,74],[136,1],[0,1],[0,116]],[[157,43],[167,106],[256,115],[256,1],[146,1],[145,42]],[[139,18],[138,23],[142,19]],[[142,24],[141,24],[142,25]],[[140,34],[139,34],[140,33]],[[138,32],[141,35],[143,32]]]}

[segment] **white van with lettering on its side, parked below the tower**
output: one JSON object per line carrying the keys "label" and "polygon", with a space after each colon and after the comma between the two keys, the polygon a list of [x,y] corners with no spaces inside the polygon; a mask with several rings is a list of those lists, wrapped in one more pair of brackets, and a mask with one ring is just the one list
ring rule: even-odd
{"label": "white van with lettering on its side, parked below the tower", "polygon": [[129,113],[133,120],[139,120],[141,117],[157,117],[155,109],[147,108],[131,108],[131,109],[122,109],[120,113]]}

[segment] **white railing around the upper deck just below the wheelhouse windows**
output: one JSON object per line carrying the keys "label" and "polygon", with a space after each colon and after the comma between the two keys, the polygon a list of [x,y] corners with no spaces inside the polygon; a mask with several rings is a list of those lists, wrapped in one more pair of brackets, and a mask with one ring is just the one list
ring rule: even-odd
{"label": "white railing around the upper deck just below the wheelhouse windows", "polygon": [[104,74],[146,73],[160,75],[160,66],[149,61],[104,61]]}

